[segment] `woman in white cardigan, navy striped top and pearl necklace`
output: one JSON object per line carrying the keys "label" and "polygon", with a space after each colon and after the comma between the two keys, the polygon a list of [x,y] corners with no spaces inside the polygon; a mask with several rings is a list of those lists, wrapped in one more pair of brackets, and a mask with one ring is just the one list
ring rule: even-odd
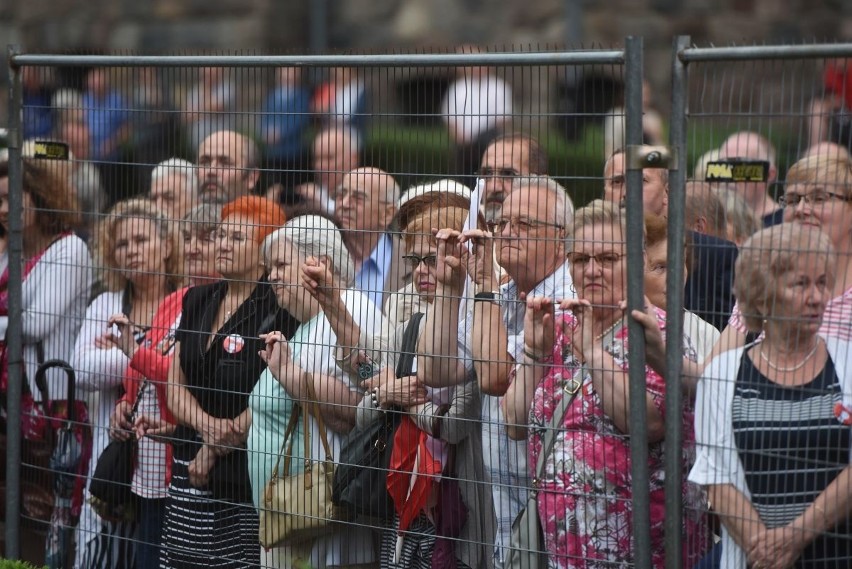
{"label": "woman in white cardigan, navy striped top and pearl necklace", "polygon": [[763,338],[705,370],[689,476],[722,521],[723,569],[852,562],[852,345],[822,331],[836,268],[829,238],[801,224],[740,251],[734,290]]}

